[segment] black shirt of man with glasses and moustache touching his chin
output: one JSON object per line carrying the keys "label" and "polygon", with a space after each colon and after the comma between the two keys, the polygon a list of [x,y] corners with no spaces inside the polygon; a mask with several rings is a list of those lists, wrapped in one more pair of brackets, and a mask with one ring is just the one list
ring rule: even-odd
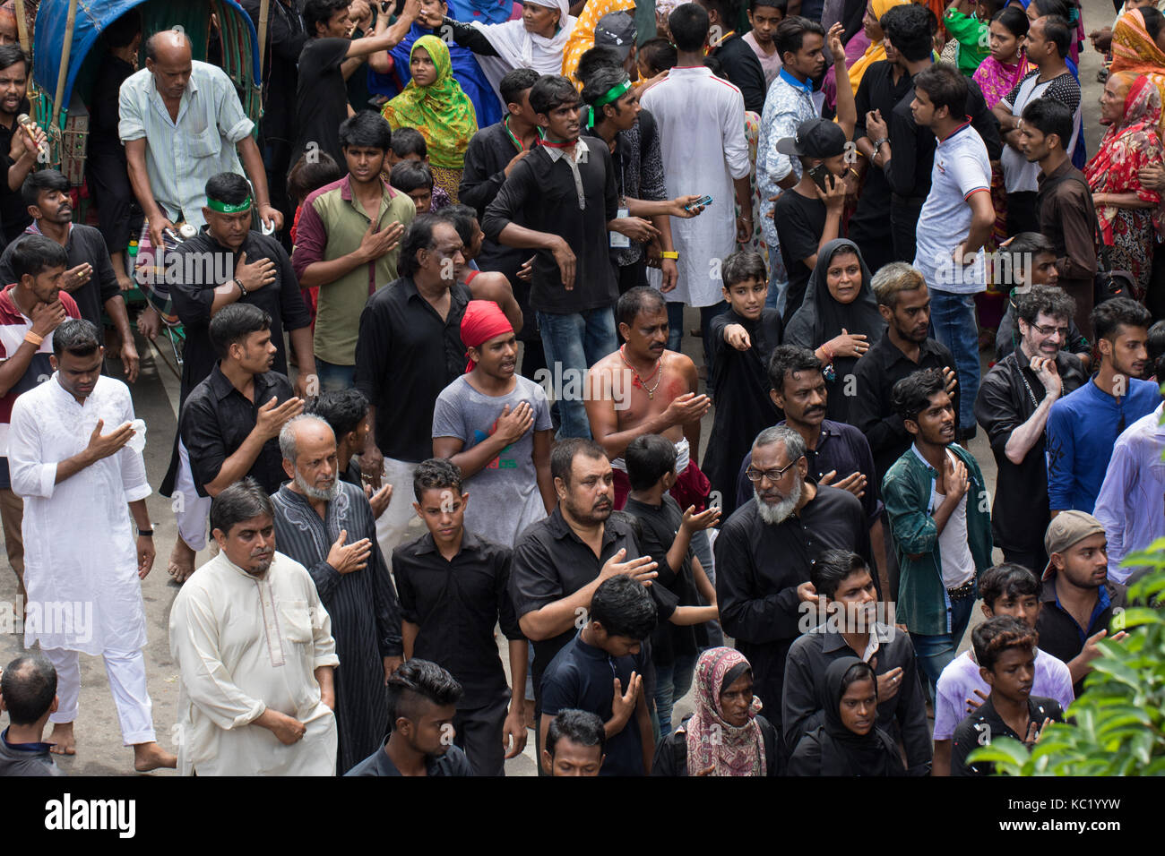
{"label": "black shirt of man with glasses and moustache touching his chin", "polygon": [[[1036,412],[1047,390],[1028,366],[1023,351],[1014,351],[995,363],[979,385],[975,420],[983,426],[991,444],[998,475],[991,504],[991,533],[995,545],[1017,553],[1044,552],[1044,531],[1052,519],[1047,500],[1046,434],[1028,450],[1021,464],[1008,460],[1005,448],[1011,432]],[[1060,374],[1060,397],[1088,382],[1083,365],[1072,354],[1055,355]],[[1043,568],[1033,567],[1039,573]]]}

